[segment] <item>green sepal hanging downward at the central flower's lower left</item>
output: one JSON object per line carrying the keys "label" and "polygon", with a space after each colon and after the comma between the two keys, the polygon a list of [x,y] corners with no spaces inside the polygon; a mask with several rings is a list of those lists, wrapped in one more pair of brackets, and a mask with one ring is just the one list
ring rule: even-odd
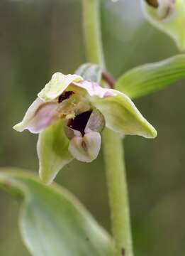
{"label": "green sepal hanging downward at the central flower's lower left", "polygon": [[64,132],[64,121],[58,120],[39,134],[39,175],[44,183],[51,183],[58,171],[72,161],[68,151],[69,139]]}

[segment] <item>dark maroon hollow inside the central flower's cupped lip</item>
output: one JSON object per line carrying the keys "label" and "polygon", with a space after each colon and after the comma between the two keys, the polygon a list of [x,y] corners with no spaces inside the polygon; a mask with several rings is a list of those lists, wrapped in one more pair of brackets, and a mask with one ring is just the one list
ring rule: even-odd
{"label": "dark maroon hollow inside the central flower's cupped lip", "polygon": [[85,134],[86,124],[91,116],[92,110],[78,114],[74,119],[69,119],[67,126],[81,132],[82,136]]}

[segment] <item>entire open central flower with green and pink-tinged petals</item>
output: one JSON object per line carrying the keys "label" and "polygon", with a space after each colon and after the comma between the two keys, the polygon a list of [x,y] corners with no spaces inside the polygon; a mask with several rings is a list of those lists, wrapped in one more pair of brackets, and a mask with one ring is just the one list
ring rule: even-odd
{"label": "entire open central flower with green and pink-tinged petals", "polygon": [[156,137],[157,132],[123,93],[55,73],[13,128],[38,133],[40,178],[50,183],[72,159],[91,162],[101,148],[104,127],[120,134]]}

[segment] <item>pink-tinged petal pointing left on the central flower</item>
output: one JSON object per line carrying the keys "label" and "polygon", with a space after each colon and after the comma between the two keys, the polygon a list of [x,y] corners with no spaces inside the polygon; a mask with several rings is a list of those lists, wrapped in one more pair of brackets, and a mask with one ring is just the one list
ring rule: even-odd
{"label": "pink-tinged petal pointing left on the central flower", "polygon": [[18,132],[28,129],[32,133],[40,133],[55,119],[57,119],[57,103],[44,103],[37,98],[28,108],[23,121],[16,124],[13,129]]}

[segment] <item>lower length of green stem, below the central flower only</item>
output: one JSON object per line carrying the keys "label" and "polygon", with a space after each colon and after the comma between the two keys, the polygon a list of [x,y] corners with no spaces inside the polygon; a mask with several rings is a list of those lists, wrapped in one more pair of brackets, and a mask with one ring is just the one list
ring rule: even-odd
{"label": "lower length of green stem, below the central flower only", "polygon": [[103,132],[103,142],[112,230],[116,249],[118,255],[132,256],[133,244],[123,142],[120,136],[110,129]]}

